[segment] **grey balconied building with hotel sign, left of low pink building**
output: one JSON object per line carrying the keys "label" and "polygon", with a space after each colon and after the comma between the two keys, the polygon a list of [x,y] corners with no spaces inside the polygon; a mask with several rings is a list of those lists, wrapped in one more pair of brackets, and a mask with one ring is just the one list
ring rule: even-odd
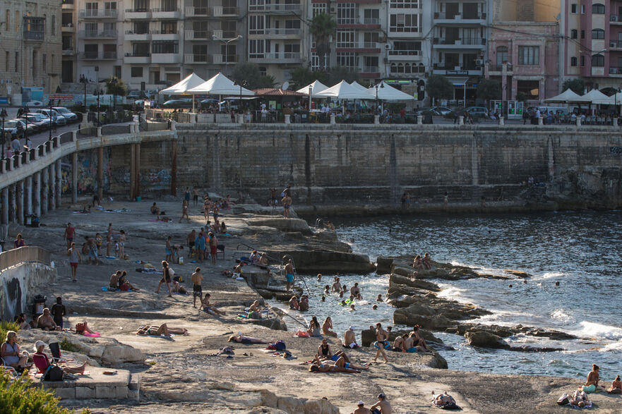
{"label": "grey balconied building with hotel sign, left of low pink building", "polygon": [[455,85],[456,99],[473,99],[488,59],[492,1],[433,0],[432,72]]}

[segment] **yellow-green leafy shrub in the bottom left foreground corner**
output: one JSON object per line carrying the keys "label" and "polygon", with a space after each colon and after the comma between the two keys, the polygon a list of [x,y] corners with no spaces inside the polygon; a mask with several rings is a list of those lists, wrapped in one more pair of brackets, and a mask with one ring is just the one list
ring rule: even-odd
{"label": "yellow-green leafy shrub in the bottom left foreground corner", "polygon": [[[19,377],[13,383],[6,374],[0,375],[0,414],[71,414],[74,411],[59,406],[60,398],[54,392],[42,389],[32,382],[28,375]],[[85,409],[82,414],[90,413]]]}

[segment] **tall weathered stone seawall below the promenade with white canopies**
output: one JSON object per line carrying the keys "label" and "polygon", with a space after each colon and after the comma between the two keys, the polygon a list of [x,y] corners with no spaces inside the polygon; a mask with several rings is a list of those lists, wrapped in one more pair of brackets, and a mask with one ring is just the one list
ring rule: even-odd
{"label": "tall weathered stone seawall below the promenade with white canopies", "polygon": [[[271,186],[291,183],[294,202],[308,205],[393,204],[404,191],[421,201],[442,201],[447,191],[452,201],[479,202],[502,192],[568,207],[622,205],[622,136],[611,127],[333,127],[179,125],[177,142],[143,143],[142,190],[169,188],[176,152],[178,188],[241,189],[259,202]],[[123,146],[111,151],[110,190],[121,193],[130,155]],[[522,185],[530,177],[545,189]]]}

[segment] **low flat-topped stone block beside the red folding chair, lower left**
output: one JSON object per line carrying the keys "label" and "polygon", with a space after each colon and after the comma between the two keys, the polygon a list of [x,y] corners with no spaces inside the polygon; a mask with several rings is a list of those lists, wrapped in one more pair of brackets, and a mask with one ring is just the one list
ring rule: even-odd
{"label": "low flat-topped stone block beside the red folding chair, lower left", "polygon": [[52,389],[61,399],[85,398],[139,398],[140,376],[128,370],[116,370],[115,375],[104,375],[110,368],[88,367],[90,375],[78,375],[78,379],[62,382],[41,382],[45,389]]}

